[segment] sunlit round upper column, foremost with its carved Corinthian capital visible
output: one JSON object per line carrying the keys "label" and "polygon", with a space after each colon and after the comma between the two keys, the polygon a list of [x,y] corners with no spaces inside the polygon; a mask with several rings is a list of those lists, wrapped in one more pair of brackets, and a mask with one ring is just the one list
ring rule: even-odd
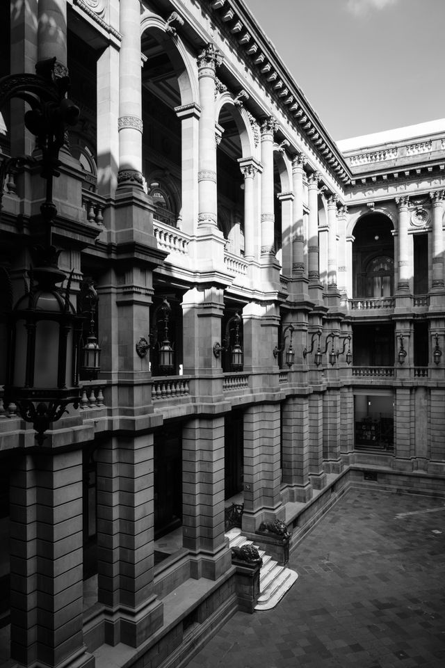
{"label": "sunlit round upper column, foremost with its carved Corinthian capital visible", "polygon": [[200,87],[200,128],[198,159],[198,225],[216,228],[216,138],[215,138],[215,72],[223,55],[209,42],[197,59]]}

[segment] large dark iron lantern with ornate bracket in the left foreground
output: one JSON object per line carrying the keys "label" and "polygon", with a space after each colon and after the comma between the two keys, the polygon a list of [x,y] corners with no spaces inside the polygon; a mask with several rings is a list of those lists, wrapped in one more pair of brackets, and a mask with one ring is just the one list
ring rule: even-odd
{"label": "large dark iron lantern with ornate bracket in the left foreground", "polygon": [[[0,109],[17,97],[29,104],[24,123],[37,138],[41,158],[26,158],[40,166],[47,182],[40,206],[46,244],[37,249],[36,267],[29,271],[29,286],[9,317],[8,379],[5,397],[17,404],[20,415],[32,422],[39,445],[51,422],[79,405],[79,342],[82,318],[70,301],[71,276],[58,269],[58,255],[51,244],[52,221],[57,209],[52,201],[53,177],[58,177],[58,154],[67,125],[75,125],[79,109],[66,93],[68,77],[56,78],[56,58],[39,61],[36,74],[12,74],[0,79]],[[3,182],[1,183],[3,189]]]}

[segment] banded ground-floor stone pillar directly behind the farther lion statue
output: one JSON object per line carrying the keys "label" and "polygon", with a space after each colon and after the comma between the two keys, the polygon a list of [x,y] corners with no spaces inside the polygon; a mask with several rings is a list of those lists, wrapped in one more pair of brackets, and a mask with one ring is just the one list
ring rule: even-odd
{"label": "banded ground-floor stone pillar directly behind the farther lion statue", "polygon": [[280,483],[280,404],[251,406],[244,414],[244,531],[284,518]]}

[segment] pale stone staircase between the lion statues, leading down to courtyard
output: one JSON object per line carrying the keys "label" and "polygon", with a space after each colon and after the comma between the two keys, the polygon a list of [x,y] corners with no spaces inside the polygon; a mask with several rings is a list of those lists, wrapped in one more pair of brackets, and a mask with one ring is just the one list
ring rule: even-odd
{"label": "pale stone staircase between the lion statues, leading down to courtyard", "polygon": [[243,545],[253,545],[258,549],[259,556],[263,559],[263,565],[259,572],[259,598],[255,610],[270,610],[283,598],[286,591],[290,589],[298,578],[295,571],[286,566],[279,566],[275,559],[266,555],[264,550],[254,545],[253,541],[248,541],[241,534],[241,529],[231,529],[226,534],[231,548],[241,548]]}

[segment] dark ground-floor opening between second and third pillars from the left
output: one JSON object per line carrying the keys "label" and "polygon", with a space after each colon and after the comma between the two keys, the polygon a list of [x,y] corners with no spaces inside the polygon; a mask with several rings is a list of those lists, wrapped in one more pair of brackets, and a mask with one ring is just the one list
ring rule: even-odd
{"label": "dark ground-floor opening between second and third pillars from the left", "polygon": [[154,538],[182,524],[181,426],[167,427],[154,436]]}

